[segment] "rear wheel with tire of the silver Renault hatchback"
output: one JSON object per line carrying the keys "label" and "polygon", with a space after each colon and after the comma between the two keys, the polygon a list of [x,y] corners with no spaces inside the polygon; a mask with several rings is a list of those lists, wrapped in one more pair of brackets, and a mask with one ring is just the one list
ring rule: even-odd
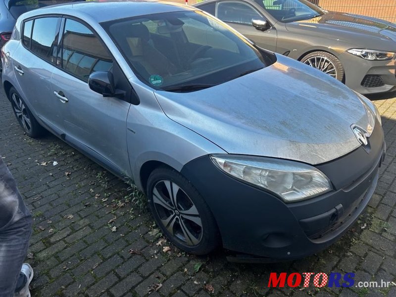
{"label": "rear wheel with tire of the silver Renault hatchback", "polygon": [[11,87],[9,90],[9,99],[11,100],[15,117],[23,131],[31,138],[37,138],[43,135],[45,131],[44,128],[37,122],[25,101],[14,87]]}

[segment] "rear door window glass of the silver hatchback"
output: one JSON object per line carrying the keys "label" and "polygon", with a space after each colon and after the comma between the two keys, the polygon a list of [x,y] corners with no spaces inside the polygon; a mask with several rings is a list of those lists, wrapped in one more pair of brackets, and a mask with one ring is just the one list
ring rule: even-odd
{"label": "rear door window glass of the silver hatchback", "polygon": [[59,17],[37,18],[33,23],[30,49],[44,60],[55,63],[57,52]]}

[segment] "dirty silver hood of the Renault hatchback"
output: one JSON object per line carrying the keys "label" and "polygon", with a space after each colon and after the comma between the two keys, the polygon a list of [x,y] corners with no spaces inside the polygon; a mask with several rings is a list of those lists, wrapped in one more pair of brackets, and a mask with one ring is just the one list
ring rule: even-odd
{"label": "dirty silver hood of the Renault hatchback", "polygon": [[368,112],[334,78],[290,58],[191,93],[155,91],[164,113],[228,153],[324,163],[360,146]]}

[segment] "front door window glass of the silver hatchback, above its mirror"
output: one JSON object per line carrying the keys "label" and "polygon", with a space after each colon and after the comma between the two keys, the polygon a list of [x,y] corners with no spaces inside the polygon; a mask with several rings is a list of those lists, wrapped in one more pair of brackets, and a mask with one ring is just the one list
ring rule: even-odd
{"label": "front door window glass of the silver hatchback, above its mirror", "polygon": [[66,19],[59,58],[64,70],[86,82],[92,72],[109,71],[113,66],[111,55],[99,38],[72,19]]}

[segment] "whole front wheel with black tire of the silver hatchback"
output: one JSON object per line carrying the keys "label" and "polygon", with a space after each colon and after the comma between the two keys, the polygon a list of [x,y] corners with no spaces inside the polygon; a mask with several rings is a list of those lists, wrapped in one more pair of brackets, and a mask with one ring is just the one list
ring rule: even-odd
{"label": "whole front wheel with black tire of the silver hatchback", "polygon": [[219,246],[220,234],[213,214],[194,186],[179,172],[168,167],[153,170],[148,178],[147,193],[157,225],[176,247],[204,255]]}

